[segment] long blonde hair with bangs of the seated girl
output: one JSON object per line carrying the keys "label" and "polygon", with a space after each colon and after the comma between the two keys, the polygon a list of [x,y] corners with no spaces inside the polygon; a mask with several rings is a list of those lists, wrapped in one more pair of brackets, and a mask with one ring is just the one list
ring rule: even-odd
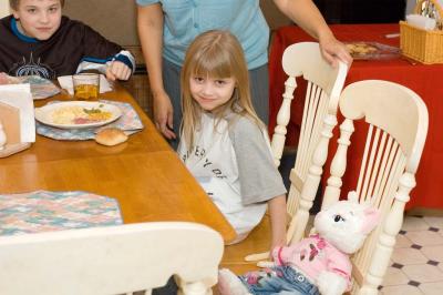
{"label": "long blonde hair with bangs of the seated girl", "polygon": [[240,43],[228,31],[207,31],[190,43],[181,73],[183,110],[181,131],[182,140],[185,140],[188,151],[194,148],[194,133],[200,128],[199,121],[202,112],[204,112],[192,98],[189,89],[192,77],[234,78],[236,81],[231,99],[212,111],[216,116],[216,122],[231,111],[251,118],[259,126],[264,125],[253,106],[249,72]]}

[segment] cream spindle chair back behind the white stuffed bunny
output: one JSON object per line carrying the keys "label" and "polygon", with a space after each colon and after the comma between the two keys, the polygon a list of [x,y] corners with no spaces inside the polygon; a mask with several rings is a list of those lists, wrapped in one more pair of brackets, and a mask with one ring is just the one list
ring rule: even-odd
{"label": "cream spindle chair back behind the white stuffed bunny", "polygon": [[369,126],[362,131],[368,130],[368,135],[356,191],[361,202],[372,199],[382,217],[352,258],[352,293],[378,294],[403,223],[404,205],[415,186],[415,172],[427,133],[427,110],[412,90],[388,81],[368,80],[343,90],[340,111],[344,121],[340,125],[339,145],[322,206],[337,202],[340,196],[353,121],[364,119]]}

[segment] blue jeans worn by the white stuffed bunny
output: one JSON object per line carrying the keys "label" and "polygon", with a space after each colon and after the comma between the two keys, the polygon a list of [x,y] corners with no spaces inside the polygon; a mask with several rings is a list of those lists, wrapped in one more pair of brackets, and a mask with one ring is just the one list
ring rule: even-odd
{"label": "blue jeans worn by the white stuffed bunny", "polygon": [[250,293],[257,295],[320,295],[316,285],[290,266],[251,272],[239,278]]}

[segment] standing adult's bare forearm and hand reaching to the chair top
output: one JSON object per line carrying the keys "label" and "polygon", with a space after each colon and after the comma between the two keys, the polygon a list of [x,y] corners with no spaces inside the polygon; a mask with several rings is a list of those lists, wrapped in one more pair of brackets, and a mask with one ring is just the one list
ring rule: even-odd
{"label": "standing adult's bare forearm and hand reaching to the chair top", "polygon": [[274,0],[278,9],[316,38],[323,58],[337,67],[337,60],[351,64],[352,58],[346,47],[332,34],[320,11],[311,0]]}

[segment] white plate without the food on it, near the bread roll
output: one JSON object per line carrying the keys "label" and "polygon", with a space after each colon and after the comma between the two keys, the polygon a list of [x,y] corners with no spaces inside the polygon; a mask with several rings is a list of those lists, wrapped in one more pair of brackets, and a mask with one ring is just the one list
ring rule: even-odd
{"label": "white plate without the food on it, near the bread roll", "polygon": [[[69,111],[71,106],[80,106],[85,110],[97,109],[103,112],[110,112],[111,118],[103,121],[91,122],[91,123],[74,123],[71,120],[66,123],[56,123],[54,122],[53,114],[56,111],[61,111],[66,109],[66,112],[70,113],[69,115],[75,116],[73,112]],[[103,102],[95,102],[95,101],[64,101],[58,103],[47,104],[42,108],[35,108],[35,119],[43,124],[61,128],[61,129],[85,129],[85,128],[97,128],[105,124],[109,124],[115,120],[117,120],[122,115],[122,111],[112,104],[103,103]],[[68,116],[66,116],[68,118]],[[56,120],[58,121],[58,120]]]}

